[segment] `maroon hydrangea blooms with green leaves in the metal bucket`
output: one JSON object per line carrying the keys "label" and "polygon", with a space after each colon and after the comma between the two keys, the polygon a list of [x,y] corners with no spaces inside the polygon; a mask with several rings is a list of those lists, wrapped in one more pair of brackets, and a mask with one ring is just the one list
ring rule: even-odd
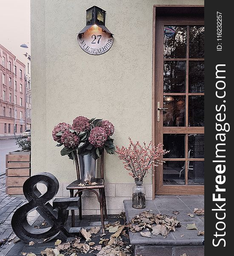
{"label": "maroon hydrangea blooms with green leaves in the metal bucket", "polygon": [[61,155],[68,155],[74,160],[74,154],[92,154],[94,160],[98,159],[105,149],[108,154],[114,154],[115,146],[111,135],[114,134],[114,125],[103,119],[88,119],[77,116],[72,125],[59,123],[52,131],[53,139],[64,145]]}

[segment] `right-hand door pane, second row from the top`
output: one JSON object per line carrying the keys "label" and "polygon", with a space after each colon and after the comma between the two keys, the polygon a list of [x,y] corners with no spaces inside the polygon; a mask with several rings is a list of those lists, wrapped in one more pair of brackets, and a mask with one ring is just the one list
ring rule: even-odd
{"label": "right-hand door pane, second row from the top", "polygon": [[204,93],[204,61],[189,61],[188,92]]}

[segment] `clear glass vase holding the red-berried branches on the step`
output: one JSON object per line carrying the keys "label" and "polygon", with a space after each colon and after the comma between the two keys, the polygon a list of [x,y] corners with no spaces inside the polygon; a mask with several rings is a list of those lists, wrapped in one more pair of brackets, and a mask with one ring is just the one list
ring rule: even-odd
{"label": "clear glass vase holding the red-berried branches on the step", "polygon": [[135,209],[146,208],[146,188],[143,181],[135,181],[136,186],[132,189],[132,207]]}

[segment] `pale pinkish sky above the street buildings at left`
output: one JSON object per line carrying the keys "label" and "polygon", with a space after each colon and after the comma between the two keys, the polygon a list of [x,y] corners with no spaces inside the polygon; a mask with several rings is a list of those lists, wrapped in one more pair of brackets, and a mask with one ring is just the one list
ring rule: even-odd
{"label": "pale pinkish sky above the street buildings at left", "polygon": [[[27,64],[23,54],[30,54],[31,49],[30,0],[0,0],[0,24],[0,44]],[[21,44],[29,48],[22,48]]]}

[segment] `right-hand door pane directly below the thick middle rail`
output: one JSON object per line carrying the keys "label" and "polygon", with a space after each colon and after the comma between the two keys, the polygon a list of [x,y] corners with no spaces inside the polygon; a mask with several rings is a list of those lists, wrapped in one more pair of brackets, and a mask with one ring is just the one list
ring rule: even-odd
{"label": "right-hand door pane directly below the thick middle rail", "polygon": [[188,134],[188,158],[204,158],[204,134]]}

